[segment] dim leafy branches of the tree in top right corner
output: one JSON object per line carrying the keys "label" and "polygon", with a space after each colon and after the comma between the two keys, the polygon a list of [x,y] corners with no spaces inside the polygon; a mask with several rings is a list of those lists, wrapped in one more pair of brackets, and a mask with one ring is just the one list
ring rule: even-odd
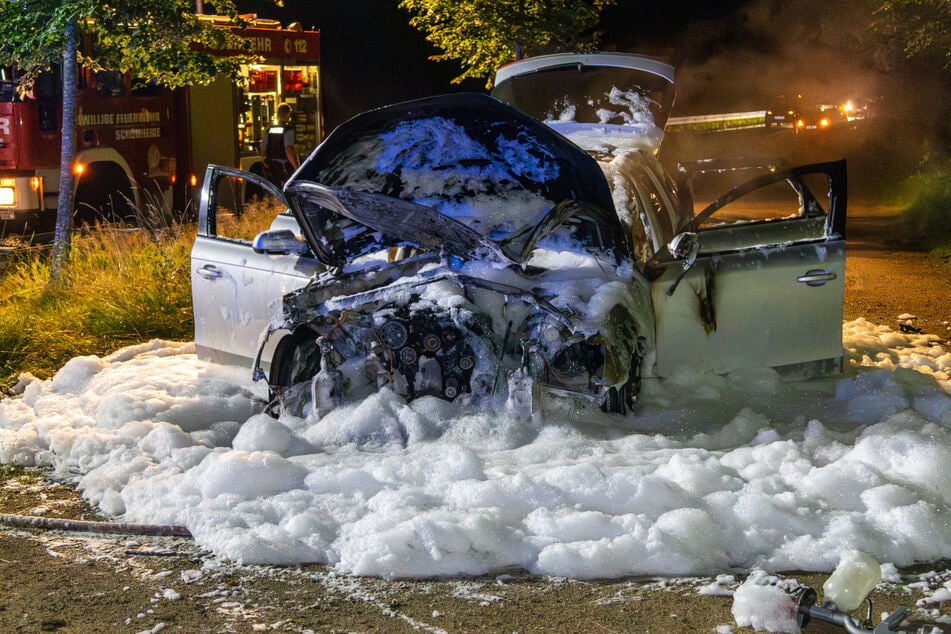
{"label": "dim leafy branches of the tree in top right corner", "polygon": [[876,17],[879,29],[897,38],[906,56],[951,70],[951,0],[887,0]]}

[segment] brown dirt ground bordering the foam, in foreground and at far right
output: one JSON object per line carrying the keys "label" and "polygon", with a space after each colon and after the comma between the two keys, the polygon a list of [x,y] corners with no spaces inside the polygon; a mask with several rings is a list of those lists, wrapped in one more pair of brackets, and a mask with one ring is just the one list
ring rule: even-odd
{"label": "brown dirt ground bordering the foam, in foreground and at far right", "polygon": [[[906,327],[947,342],[951,265],[914,251],[894,209],[860,208],[849,234],[845,318],[898,330],[908,313],[916,318]],[[0,513],[98,519],[71,487],[9,467],[0,467]],[[880,585],[872,595],[876,620],[951,583],[949,566],[903,570],[901,583]],[[788,576],[813,588],[825,580]],[[522,574],[385,581],[341,577],[322,566],[240,566],[180,538],[0,527],[2,632],[749,631],[732,628],[732,599],[707,593],[713,581]],[[714,588],[730,591],[741,581],[724,577]],[[911,629],[931,623],[951,632],[949,615],[949,603],[923,605]],[[841,630],[820,624],[807,631]]]}

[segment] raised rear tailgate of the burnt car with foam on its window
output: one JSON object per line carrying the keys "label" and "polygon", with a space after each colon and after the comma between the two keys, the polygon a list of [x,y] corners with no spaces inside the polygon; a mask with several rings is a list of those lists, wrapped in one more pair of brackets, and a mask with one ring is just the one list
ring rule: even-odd
{"label": "raised rear tailgate of the burnt car with foam on its window", "polygon": [[674,67],[629,53],[543,55],[503,66],[492,96],[585,150],[655,151],[674,101]]}

